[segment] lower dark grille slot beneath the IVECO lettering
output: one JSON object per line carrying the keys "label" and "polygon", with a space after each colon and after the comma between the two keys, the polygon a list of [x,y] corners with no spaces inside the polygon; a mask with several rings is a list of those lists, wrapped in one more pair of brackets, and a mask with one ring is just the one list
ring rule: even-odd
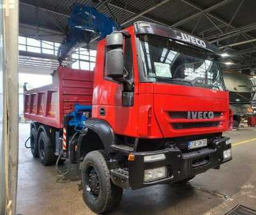
{"label": "lower dark grille slot beneath the IVECO lettering", "polygon": [[187,129],[187,128],[208,128],[208,127],[218,127],[220,121],[200,121],[191,123],[172,123],[174,129]]}

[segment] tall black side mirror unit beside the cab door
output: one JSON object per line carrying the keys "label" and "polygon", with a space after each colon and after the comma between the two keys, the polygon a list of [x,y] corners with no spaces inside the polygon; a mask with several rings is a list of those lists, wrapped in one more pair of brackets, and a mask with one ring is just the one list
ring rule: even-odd
{"label": "tall black side mirror unit beside the cab door", "polygon": [[121,32],[114,32],[106,37],[107,76],[113,79],[123,78],[124,55],[123,55],[124,36]]}

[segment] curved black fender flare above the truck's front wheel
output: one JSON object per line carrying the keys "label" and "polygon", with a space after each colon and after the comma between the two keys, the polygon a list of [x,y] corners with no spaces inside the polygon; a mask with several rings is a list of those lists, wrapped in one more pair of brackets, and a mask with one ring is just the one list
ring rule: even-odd
{"label": "curved black fender flare above the truck's front wheel", "polygon": [[112,152],[111,145],[115,144],[116,136],[107,121],[89,118],[86,120],[85,126],[93,130],[100,137],[107,153]]}

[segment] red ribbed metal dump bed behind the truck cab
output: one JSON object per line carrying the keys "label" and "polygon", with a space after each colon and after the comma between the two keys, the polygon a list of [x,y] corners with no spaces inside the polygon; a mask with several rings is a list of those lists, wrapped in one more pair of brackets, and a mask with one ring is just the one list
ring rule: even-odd
{"label": "red ribbed metal dump bed behind the truck cab", "polygon": [[56,128],[63,127],[63,116],[74,104],[91,105],[93,71],[59,67],[52,84],[24,92],[24,117]]}

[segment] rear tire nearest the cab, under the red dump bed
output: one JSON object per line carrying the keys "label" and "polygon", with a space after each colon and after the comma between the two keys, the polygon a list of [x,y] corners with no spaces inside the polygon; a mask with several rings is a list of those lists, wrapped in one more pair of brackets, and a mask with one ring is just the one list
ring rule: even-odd
{"label": "rear tire nearest the cab, under the red dump bed", "polygon": [[50,137],[42,131],[38,139],[38,154],[43,165],[52,165],[56,163],[57,156],[54,155],[54,146]]}

